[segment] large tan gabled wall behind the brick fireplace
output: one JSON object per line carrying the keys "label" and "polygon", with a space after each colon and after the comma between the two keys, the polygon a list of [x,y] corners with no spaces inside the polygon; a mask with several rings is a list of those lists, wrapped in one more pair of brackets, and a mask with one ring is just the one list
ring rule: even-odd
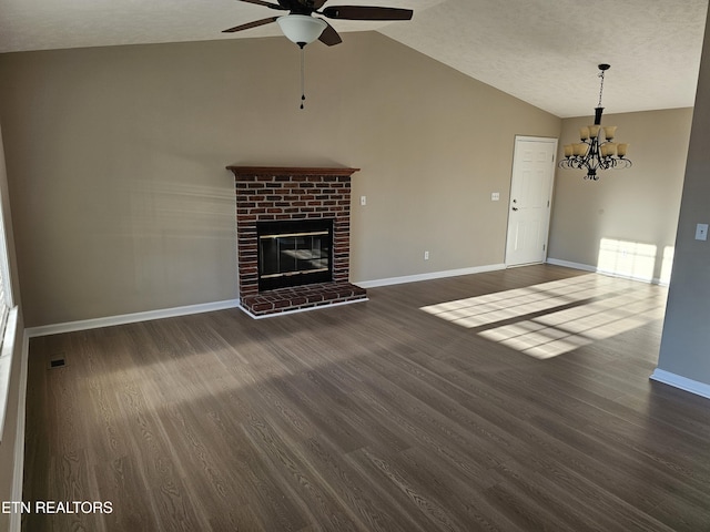
{"label": "large tan gabled wall behind the brick fireplace", "polygon": [[235,298],[231,163],[361,167],[354,282],[504,262],[515,135],[559,119],[378,33],[306,49],[304,111],[298,71],[281,38],[0,57],[27,325]]}

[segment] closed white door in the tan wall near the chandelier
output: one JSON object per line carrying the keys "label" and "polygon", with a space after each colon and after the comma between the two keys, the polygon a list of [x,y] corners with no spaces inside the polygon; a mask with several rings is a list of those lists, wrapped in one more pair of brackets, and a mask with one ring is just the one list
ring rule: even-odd
{"label": "closed white door in the tan wall near the chandelier", "polygon": [[545,262],[556,153],[557,139],[515,139],[506,266]]}

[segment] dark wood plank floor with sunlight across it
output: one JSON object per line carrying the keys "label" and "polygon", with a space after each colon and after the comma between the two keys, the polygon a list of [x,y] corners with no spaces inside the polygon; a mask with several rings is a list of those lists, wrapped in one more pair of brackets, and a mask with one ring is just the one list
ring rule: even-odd
{"label": "dark wood plank floor with sunlight across it", "polygon": [[23,530],[710,530],[710,401],[649,381],[663,288],[531,266],[368,293],[32,339],[24,500],[113,512]]}

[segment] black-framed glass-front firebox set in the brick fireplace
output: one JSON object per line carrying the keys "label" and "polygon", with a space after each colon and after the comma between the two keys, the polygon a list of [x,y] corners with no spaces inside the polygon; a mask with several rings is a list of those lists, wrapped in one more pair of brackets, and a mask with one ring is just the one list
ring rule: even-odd
{"label": "black-framed glass-front firebox set in the brick fireplace", "polygon": [[333,219],[258,222],[258,289],[333,279]]}

